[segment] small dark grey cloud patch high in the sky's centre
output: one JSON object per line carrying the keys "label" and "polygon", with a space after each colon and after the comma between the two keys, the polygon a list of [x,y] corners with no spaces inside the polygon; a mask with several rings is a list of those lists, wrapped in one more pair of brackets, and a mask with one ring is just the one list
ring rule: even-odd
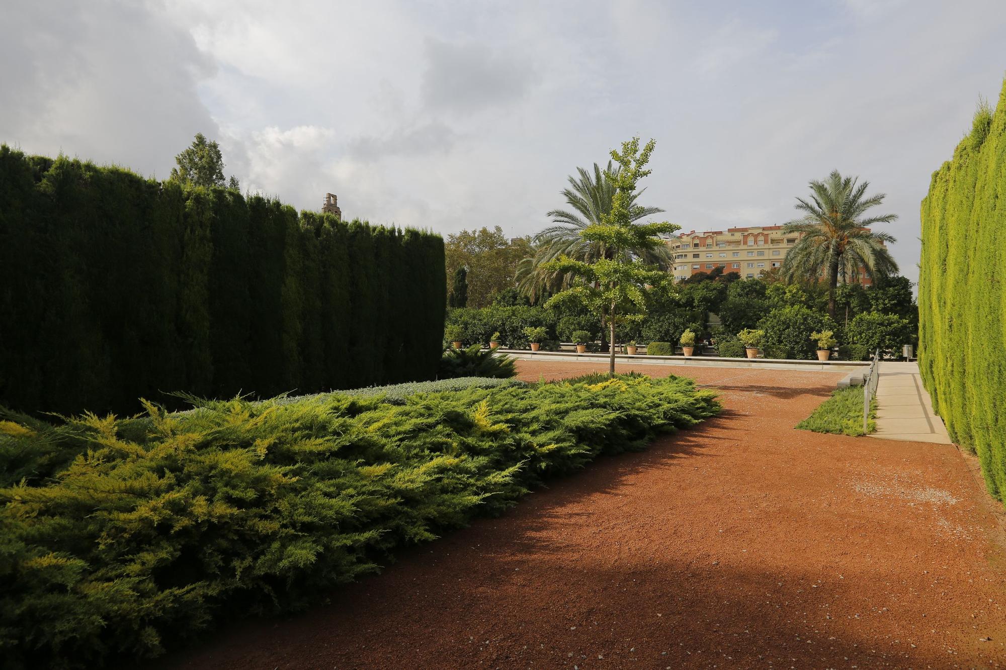
{"label": "small dark grey cloud patch high in the sky's centre", "polygon": [[535,78],[530,63],[485,46],[428,39],[423,102],[434,110],[475,112],[520,100]]}

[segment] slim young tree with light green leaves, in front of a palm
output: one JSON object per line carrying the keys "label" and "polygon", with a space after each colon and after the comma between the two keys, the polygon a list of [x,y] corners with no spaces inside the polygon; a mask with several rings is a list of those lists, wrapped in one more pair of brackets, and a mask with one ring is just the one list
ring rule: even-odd
{"label": "slim young tree with light green leaves, in front of a palm", "polygon": [[[670,281],[670,275],[647,265],[637,256],[641,249],[653,249],[665,244],[664,235],[681,226],[668,221],[637,223],[642,205],[634,204],[636,184],[650,174],[646,169],[656,146],[650,140],[639,148],[639,138],[622,143],[622,151],[612,150],[612,159],[621,169],[609,172],[616,192],[610,213],[603,214],[600,223],[580,231],[589,242],[599,244],[603,253],[592,263],[561,257],[548,264],[548,270],[568,274],[575,283],[569,289],[552,296],[546,307],[583,305],[598,315],[609,328],[611,353],[609,372],[615,373],[615,327],[619,323],[642,319],[646,315],[647,291]],[[630,250],[632,249],[632,250]]]}

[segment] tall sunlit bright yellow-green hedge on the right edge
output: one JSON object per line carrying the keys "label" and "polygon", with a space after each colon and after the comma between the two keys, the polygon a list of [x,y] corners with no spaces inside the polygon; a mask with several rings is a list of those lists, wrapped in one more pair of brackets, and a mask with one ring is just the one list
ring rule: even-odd
{"label": "tall sunlit bright yellow-green hedge on the right edge", "polygon": [[951,438],[1006,502],[1006,82],[921,204],[918,362]]}

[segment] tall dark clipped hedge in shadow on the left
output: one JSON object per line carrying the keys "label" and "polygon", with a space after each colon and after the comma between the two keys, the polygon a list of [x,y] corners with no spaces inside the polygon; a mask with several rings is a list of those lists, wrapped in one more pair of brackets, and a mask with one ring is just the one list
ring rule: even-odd
{"label": "tall dark clipped hedge in shadow on the left", "polygon": [[0,146],[0,404],[431,379],[444,242]]}

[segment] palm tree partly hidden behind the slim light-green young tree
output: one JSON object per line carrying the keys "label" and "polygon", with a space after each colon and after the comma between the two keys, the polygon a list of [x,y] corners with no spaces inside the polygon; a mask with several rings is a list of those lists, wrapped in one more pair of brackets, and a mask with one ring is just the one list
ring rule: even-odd
{"label": "palm tree partly hidden behind the slim light-green young tree", "polygon": [[[583,168],[576,168],[579,179],[569,177],[569,188],[562,190],[572,210],[552,209],[548,216],[552,225],[541,230],[534,236],[534,256],[523,259],[517,264],[515,275],[517,288],[528,296],[532,302],[540,297],[542,292],[556,292],[567,288],[570,278],[560,273],[546,271],[543,266],[550,261],[565,256],[573,261],[593,263],[598,259],[610,258],[610,254],[598,242],[586,241],[580,236],[580,231],[592,224],[601,223],[602,214],[612,211],[612,198],[615,196],[615,185],[608,175],[618,174],[621,166],[614,167],[612,161],[602,169],[594,164],[594,173]],[[635,194],[636,198],[643,194],[643,189]],[[639,207],[633,220],[664,211],[659,207]],[[666,246],[654,249],[629,249],[631,255],[643,259],[646,263],[669,270],[673,265],[673,257]]]}

